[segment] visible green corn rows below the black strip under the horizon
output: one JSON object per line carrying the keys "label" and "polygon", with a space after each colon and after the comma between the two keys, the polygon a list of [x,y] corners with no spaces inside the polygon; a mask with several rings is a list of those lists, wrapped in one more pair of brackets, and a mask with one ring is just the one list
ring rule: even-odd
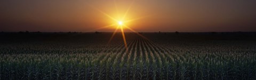
{"label": "visible green corn rows below the black strip under the horizon", "polygon": [[[0,46],[0,79],[254,79],[255,44],[143,38],[99,43]],[[55,44],[55,45],[53,45]]]}

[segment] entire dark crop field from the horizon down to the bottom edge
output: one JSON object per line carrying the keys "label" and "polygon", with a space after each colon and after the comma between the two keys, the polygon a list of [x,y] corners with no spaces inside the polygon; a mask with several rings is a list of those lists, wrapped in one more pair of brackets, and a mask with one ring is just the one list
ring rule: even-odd
{"label": "entire dark crop field from the horizon down to the bottom edge", "polygon": [[0,79],[256,79],[255,33],[0,33]]}

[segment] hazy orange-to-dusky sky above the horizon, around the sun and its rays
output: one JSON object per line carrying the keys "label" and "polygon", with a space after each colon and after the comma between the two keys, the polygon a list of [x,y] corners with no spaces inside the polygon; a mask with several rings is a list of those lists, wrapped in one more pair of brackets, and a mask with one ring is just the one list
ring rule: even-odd
{"label": "hazy orange-to-dusky sky above the horizon, around the sun and its rays", "polygon": [[[136,31],[256,31],[255,0],[2,0],[0,31],[114,31],[125,20]],[[116,6],[115,6],[116,5]],[[97,10],[98,9],[98,10]],[[128,31],[128,30],[125,30]]]}

